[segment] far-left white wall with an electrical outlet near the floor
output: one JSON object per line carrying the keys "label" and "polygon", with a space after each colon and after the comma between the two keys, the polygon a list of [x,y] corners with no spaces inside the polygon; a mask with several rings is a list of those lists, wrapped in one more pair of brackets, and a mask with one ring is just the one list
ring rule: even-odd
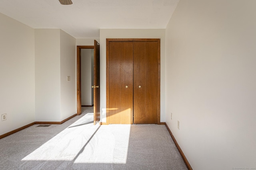
{"label": "far-left white wall with an electrical outlet near the floor", "polygon": [[0,14],[0,135],[35,121],[34,29]]}

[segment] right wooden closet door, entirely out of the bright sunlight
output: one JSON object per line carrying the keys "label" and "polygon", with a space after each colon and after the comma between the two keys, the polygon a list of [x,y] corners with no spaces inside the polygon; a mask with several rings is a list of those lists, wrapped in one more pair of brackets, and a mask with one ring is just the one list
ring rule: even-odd
{"label": "right wooden closet door, entirely out of the bright sunlight", "polygon": [[158,42],[134,42],[134,124],[158,123]]}

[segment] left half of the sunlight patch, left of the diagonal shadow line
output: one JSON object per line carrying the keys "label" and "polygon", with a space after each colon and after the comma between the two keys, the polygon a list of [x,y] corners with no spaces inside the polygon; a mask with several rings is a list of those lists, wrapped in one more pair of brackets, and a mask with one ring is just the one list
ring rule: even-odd
{"label": "left half of the sunlight patch, left of the diagonal shadow line", "polygon": [[22,160],[73,160],[99,126],[88,123],[91,119],[84,115]]}

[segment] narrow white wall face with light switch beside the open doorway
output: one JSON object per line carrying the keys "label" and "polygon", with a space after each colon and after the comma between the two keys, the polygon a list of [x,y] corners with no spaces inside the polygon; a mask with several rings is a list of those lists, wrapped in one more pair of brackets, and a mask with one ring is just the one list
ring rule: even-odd
{"label": "narrow white wall face with light switch beside the open doorway", "polygon": [[76,114],[76,39],[61,29],[60,106],[61,121]]}

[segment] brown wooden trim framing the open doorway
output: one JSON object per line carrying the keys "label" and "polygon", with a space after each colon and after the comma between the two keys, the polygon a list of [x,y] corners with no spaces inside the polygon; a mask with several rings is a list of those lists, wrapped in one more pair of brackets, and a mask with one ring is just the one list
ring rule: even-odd
{"label": "brown wooden trim framing the open doorway", "polygon": [[76,115],[81,114],[81,49],[94,49],[94,46],[76,46]]}

